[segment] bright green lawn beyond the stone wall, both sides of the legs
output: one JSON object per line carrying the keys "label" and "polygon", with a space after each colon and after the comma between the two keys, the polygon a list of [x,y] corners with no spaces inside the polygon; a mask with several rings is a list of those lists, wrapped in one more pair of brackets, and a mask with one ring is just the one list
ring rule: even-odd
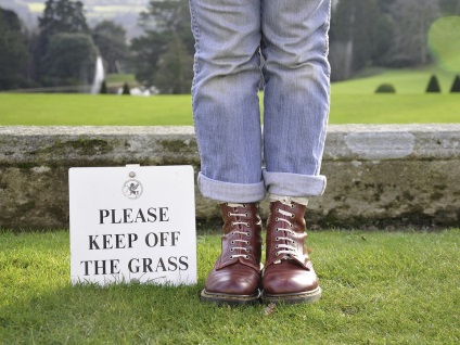
{"label": "bright green lawn beyond the stone wall, both sides of the legs", "polygon": [[[424,93],[433,73],[439,79],[442,94]],[[452,73],[436,69],[399,69],[333,84],[330,123],[460,123],[460,93],[448,93],[453,77]],[[373,93],[382,82],[393,84],[397,93]],[[192,124],[190,94],[142,98],[0,93],[0,125]]]}

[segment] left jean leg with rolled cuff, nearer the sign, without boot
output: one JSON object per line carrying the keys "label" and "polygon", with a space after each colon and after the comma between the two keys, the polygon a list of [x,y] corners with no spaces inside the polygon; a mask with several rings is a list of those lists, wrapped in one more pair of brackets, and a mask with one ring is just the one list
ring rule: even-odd
{"label": "left jean leg with rolled cuff, nearer the sign, without boot", "polygon": [[190,0],[193,118],[206,197],[258,202],[261,179],[260,0]]}

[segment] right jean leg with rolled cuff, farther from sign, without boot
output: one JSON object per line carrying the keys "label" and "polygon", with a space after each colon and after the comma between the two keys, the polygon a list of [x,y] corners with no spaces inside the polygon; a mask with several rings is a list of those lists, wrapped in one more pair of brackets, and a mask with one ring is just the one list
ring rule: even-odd
{"label": "right jean leg with rolled cuff, farther from sign, without boot", "polygon": [[263,1],[264,180],[269,193],[319,195],[329,104],[329,0]]}

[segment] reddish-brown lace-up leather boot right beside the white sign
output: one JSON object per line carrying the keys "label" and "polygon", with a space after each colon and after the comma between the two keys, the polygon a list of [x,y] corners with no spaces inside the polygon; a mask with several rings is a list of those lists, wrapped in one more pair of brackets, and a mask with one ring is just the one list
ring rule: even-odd
{"label": "reddish-brown lace-up leather boot right beside the white sign", "polygon": [[261,220],[257,204],[220,204],[222,253],[208,274],[203,301],[241,305],[260,297]]}

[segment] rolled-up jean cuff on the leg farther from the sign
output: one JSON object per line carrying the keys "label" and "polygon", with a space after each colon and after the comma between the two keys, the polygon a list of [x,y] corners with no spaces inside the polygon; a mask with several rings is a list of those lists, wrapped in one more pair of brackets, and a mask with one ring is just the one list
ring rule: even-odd
{"label": "rolled-up jean cuff on the leg farther from the sign", "polygon": [[308,176],[292,173],[263,171],[267,191],[284,196],[316,196],[325,189],[325,176]]}

